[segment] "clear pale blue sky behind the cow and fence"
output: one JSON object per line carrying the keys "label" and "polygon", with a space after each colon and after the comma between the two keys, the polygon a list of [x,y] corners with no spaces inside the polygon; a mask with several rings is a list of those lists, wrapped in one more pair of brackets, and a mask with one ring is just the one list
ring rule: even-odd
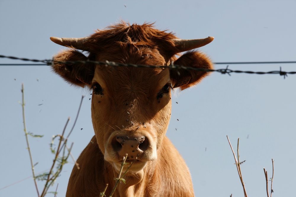
{"label": "clear pale blue sky behind the cow and fence", "polygon": [[[214,62],[295,61],[295,7],[295,0],[1,0],[0,54],[50,59],[65,49],[52,43],[50,36],[85,37],[123,19],[139,24],[156,22],[157,28],[173,31],[183,39],[214,36],[212,43],[200,48]],[[0,59],[0,63],[23,62]],[[295,64],[229,68],[271,71],[279,66],[285,71],[296,70]],[[81,95],[86,98],[70,136],[75,158],[94,135],[88,90],[71,87],[47,66],[0,66],[1,197],[37,196],[33,180],[28,178],[30,160],[18,103],[22,82],[27,129],[44,134],[41,139],[29,139],[33,160],[39,162],[36,173],[50,168],[51,136],[62,132],[68,116],[73,124]],[[243,196],[226,135],[235,148],[240,138],[240,158],[246,160],[242,175],[249,196],[266,195],[263,167],[271,177],[271,158],[275,165],[273,196],[295,196],[295,84],[296,75],[284,79],[278,75],[213,73],[198,86],[176,93],[167,136],[189,166],[196,196]],[[65,196],[72,168],[70,160],[57,179],[58,196]],[[16,184],[1,189],[12,183]],[[43,184],[38,183],[40,189]]]}

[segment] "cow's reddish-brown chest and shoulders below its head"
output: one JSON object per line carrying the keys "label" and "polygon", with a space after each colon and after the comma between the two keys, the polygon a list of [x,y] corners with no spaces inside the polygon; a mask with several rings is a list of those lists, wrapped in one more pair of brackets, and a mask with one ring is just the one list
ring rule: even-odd
{"label": "cow's reddish-brown chest and shoulders below its head", "polygon": [[[94,143],[90,142],[77,160],[80,169],[73,168],[66,196],[99,196],[107,183],[107,196],[112,191],[114,177],[118,174],[104,161],[104,155],[96,146],[95,136],[91,141]],[[159,160],[147,164],[143,180],[136,184],[139,185],[138,188],[132,188],[135,191],[134,196],[194,196],[189,170],[167,137],[163,139],[158,152]],[[168,155],[172,155],[174,159],[167,157]],[[136,177],[125,179],[126,184],[138,182]],[[120,187],[127,186],[120,183],[118,188]],[[124,191],[126,190],[117,190],[114,196],[128,196]]]}

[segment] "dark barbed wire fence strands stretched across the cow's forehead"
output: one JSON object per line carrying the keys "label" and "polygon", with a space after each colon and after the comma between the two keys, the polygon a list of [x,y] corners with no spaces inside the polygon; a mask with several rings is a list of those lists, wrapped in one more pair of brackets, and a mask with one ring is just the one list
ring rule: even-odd
{"label": "dark barbed wire fence strands stretched across the cow's forehead", "polygon": [[[0,55],[0,58],[9,58],[14,60],[22,60],[22,61],[32,61],[32,62],[42,62],[43,64],[0,64],[0,66],[20,66],[20,65],[52,65],[54,63],[60,63],[60,64],[99,64],[99,65],[105,65],[105,66],[125,66],[125,67],[136,67],[136,68],[168,68],[168,69],[185,69],[185,70],[193,70],[193,71],[205,71],[205,72],[219,72],[221,74],[228,74],[230,76],[231,73],[247,73],[247,74],[279,74],[280,76],[284,76],[284,79],[288,74],[296,74],[296,71],[282,71],[281,67],[277,71],[241,71],[241,70],[231,70],[229,69],[229,65],[226,66],[225,69],[202,69],[202,68],[195,68],[190,66],[182,66],[182,65],[176,65],[176,64],[170,64],[169,66],[161,66],[161,65],[144,65],[144,64],[125,64],[125,63],[116,63],[113,61],[54,61],[50,59],[45,60],[38,60],[38,59],[29,59],[29,58],[18,58],[14,56],[4,56]],[[214,64],[285,64],[285,63],[296,63],[296,61],[279,61],[279,62],[217,62]]]}

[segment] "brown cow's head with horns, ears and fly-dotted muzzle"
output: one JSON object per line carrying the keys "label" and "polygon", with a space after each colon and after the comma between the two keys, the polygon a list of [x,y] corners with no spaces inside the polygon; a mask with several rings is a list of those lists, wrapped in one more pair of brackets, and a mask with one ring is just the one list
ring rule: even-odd
{"label": "brown cow's head with horns, ears and fly-dotted muzzle", "polygon": [[[203,53],[189,51],[210,43],[213,37],[181,40],[150,24],[121,23],[97,30],[86,38],[56,38],[57,44],[74,48],[54,56],[53,70],[71,84],[92,90],[91,115],[97,144],[104,159],[120,169],[123,156],[134,160],[132,172],[157,158],[168,128],[171,89],[181,90],[200,82],[202,71],[163,68],[112,67],[95,64],[62,64],[57,61],[114,61],[120,63],[174,64],[212,69]],[[77,51],[87,51],[88,55]]]}

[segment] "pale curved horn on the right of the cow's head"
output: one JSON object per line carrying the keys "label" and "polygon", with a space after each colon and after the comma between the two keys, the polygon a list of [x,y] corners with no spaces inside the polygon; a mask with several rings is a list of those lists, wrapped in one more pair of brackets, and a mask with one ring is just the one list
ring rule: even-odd
{"label": "pale curved horn on the right of the cow's head", "polygon": [[214,37],[207,37],[203,39],[195,39],[195,40],[183,40],[183,39],[173,39],[173,42],[176,46],[176,51],[178,53],[189,51],[195,48],[199,48],[202,46],[207,45],[208,43],[212,42]]}

